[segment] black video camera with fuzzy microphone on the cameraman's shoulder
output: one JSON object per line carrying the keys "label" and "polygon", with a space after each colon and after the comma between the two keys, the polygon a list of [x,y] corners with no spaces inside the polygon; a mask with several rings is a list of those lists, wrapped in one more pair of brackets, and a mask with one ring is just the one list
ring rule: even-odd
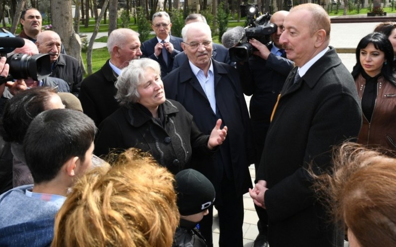
{"label": "black video camera with fuzzy microphone on the cameraman's shoulder", "polygon": [[248,41],[254,38],[267,45],[270,42],[270,35],[277,31],[277,26],[270,23],[271,15],[268,12],[260,16],[258,14],[257,5],[241,5],[241,16],[247,16],[248,24],[239,43],[229,49],[231,61],[247,62],[249,56],[256,50]]}

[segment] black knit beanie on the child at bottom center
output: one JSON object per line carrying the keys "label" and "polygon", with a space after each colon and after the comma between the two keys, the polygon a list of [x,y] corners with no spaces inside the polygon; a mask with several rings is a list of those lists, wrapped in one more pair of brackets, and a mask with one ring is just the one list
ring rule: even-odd
{"label": "black knit beanie on the child at bottom center", "polygon": [[177,206],[181,215],[187,216],[205,211],[216,198],[213,184],[194,169],[176,174]]}

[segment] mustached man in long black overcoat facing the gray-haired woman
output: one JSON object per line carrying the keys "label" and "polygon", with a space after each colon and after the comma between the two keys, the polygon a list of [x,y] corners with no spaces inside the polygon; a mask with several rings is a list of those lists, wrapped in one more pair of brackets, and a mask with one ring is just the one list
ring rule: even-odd
{"label": "mustached man in long black overcoat facing the gray-haired woman", "polygon": [[270,247],[342,247],[343,226],[328,218],[311,188],[332,167],[332,147],[356,138],[362,118],[354,80],[330,42],[330,17],[300,4],[285,17],[279,42],[296,67],[271,116],[253,202],[266,209]]}

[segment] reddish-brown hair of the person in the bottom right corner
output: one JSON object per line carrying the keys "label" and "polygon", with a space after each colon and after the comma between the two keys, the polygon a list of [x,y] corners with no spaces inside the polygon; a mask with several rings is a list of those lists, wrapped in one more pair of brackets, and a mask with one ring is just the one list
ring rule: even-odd
{"label": "reddish-brown hair of the person in the bottom right corner", "polygon": [[360,247],[396,246],[396,159],[345,143],[333,160],[333,174],[314,175],[314,188],[334,220],[346,223]]}

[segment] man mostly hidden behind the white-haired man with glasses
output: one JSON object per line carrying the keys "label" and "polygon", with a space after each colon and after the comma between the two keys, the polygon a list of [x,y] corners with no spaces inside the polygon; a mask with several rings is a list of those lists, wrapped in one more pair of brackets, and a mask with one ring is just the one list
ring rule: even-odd
{"label": "man mostly hidden behind the white-haired man with glasses", "polygon": [[[184,21],[184,25],[193,23],[193,22],[203,22],[207,24],[206,18],[197,13],[189,14]],[[226,63],[231,66],[235,67],[235,62],[231,62],[230,55],[228,54],[228,49],[224,47],[222,44],[212,43],[213,51],[212,51],[212,58],[217,62]],[[187,55],[184,52],[180,52],[175,59],[173,60],[173,69],[179,68],[187,60]]]}

